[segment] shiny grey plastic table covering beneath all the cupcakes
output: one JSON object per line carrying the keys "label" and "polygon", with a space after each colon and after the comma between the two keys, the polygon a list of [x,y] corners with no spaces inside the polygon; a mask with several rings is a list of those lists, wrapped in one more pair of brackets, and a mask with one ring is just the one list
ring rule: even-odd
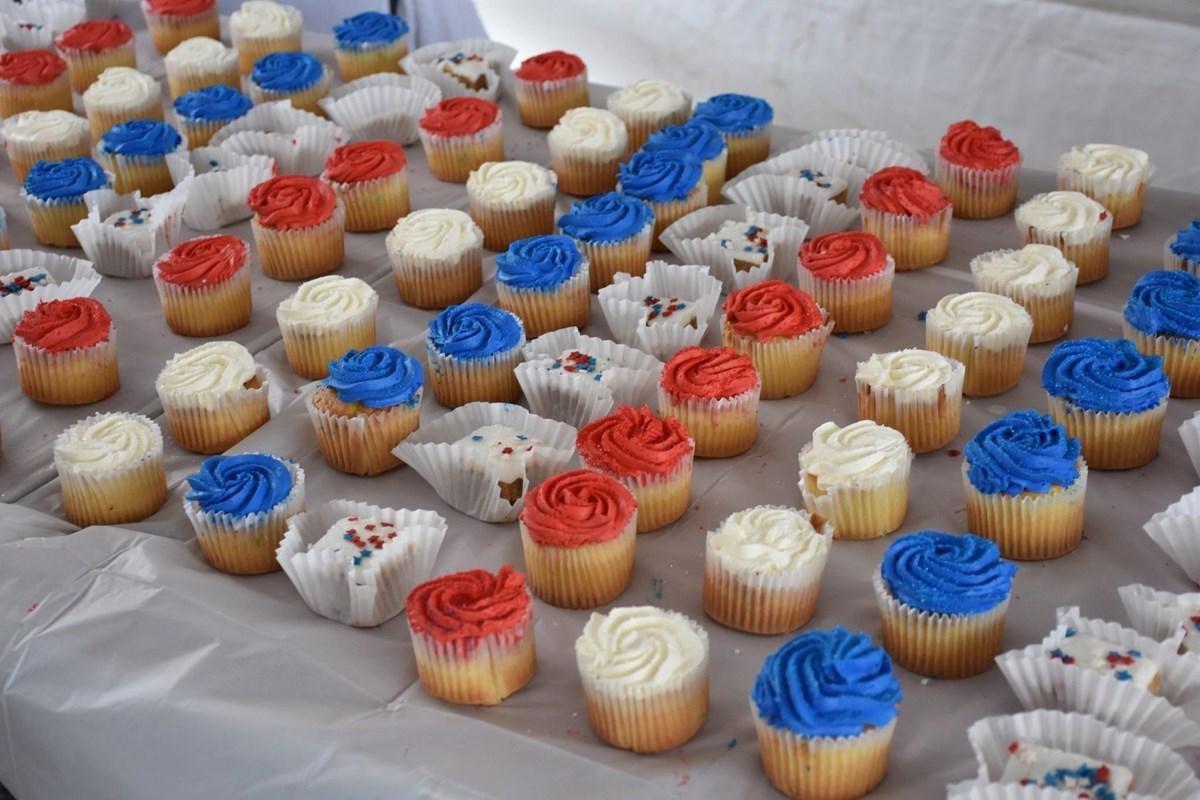
{"label": "shiny grey plastic table covering beneath all the cupcakes", "polygon": [[[604,94],[594,89],[593,102]],[[548,163],[544,132],[522,127],[510,101],[505,112],[509,157]],[[776,149],[793,133],[776,131]],[[408,156],[414,207],[466,209],[463,187],[433,181],[419,146]],[[31,246],[28,215],[11,199],[11,173],[2,180],[13,243]],[[1026,170],[1021,199],[1052,180]],[[560,196],[560,210],[570,201]],[[1200,197],[1151,188],[1142,223],[1112,239],[1111,275],[1079,289],[1070,336],[1120,336],[1129,288],[1160,264],[1171,231],[1196,216]],[[251,239],[248,223],[226,231]],[[697,461],[689,513],[638,537],[636,572],[617,604],[680,610],[710,637],[708,721],[688,745],[656,756],[611,748],[588,728],[572,645],[589,612],[535,601],[539,668],[532,682],[499,706],[454,706],[416,682],[403,618],[373,630],[346,627],[311,613],[282,573],[239,578],[210,569],[192,541],[178,486],[200,458],[169,438],[174,489],[158,513],[136,525],[71,533],[59,517],[53,437],[96,410],[157,415],[154,377],[173,353],[196,343],[167,331],[150,279],[104,278],[95,296],[120,331],[122,389],[115,397],[79,409],[35,407],[17,390],[11,348],[0,348],[0,375],[7,375],[0,381],[0,491],[17,501],[0,505],[0,782],[19,800],[778,796],[760,765],[748,693],[766,655],[787,637],[739,633],[703,615],[704,533],[750,505],[799,505],[797,453],[821,422],[856,419],[856,362],[920,347],[920,311],[971,289],[970,258],[1015,246],[1015,236],[1010,217],[956,219],[943,265],[896,277],[893,321],[874,333],[830,338],[810,391],[762,404],[754,450]],[[421,356],[432,314],[400,303],[383,239],[348,235],[342,273],[367,278],[379,291],[379,341]],[[300,462],[310,507],[350,498],[438,511],[449,534],[434,573],[521,567],[515,523],[490,525],[454,511],[407,468],[360,479],[324,464],[300,402],[304,381],[288,371],[275,330],[274,305],[292,290],[256,277],[254,318],[234,336],[258,351],[277,387],[271,422],[235,450]],[[494,297],[488,282],[476,299]],[[718,331],[710,326],[706,343],[716,343]],[[587,332],[607,336],[595,303]],[[948,449],[917,457],[901,533],[965,530],[959,451],[1006,411],[1045,408],[1038,378],[1051,347],[1030,349],[1016,389],[967,401],[961,433]],[[1176,428],[1196,408],[1171,401],[1162,453],[1146,468],[1091,474],[1085,541],[1062,559],[1021,565],[1006,649],[1039,639],[1058,606],[1124,621],[1116,594],[1124,583],[1194,589],[1141,523],[1195,483]],[[424,419],[442,413],[427,392]],[[871,573],[893,539],[835,542],[809,627],[840,624],[878,636]],[[905,700],[890,772],[874,796],[942,796],[947,782],[976,774],[967,726],[1020,708],[996,669],[962,681],[898,674]]]}

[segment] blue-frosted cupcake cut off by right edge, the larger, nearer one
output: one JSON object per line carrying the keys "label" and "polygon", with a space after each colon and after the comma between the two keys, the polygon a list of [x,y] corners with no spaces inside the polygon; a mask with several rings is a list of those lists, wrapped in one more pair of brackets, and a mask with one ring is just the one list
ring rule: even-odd
{"label": "blue-frosted cupcake cut off by right edge, the larger, nearer one", "polygon": [[1144,355],[1162,356],[1171,397],[1200,397],[1200,277],[1154,270],[1138,278],[1124,335]]}

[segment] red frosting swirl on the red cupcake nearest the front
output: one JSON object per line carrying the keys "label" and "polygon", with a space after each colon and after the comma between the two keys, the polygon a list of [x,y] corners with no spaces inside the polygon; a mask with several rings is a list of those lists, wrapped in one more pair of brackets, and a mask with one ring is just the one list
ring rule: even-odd
{"label": "red frosting swirl on the red cupcake nearest the front", "polygon": [[433,578],[408,593],[408,625],[414,633],[451,642],[464,651],[496,633],[520,633],[533,619],[524,576],[505,564],[492,575],[468,570]]}

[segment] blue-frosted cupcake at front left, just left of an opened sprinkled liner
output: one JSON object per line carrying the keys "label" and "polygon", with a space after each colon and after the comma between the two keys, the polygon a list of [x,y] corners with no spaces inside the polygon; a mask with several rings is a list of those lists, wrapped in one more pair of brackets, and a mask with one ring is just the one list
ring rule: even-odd
{"label": "blue-frosted cupcake at front left, just left of an opened sprinkled liner", "polygon": [[280,569],[288,517],[304,511],[304,470],[269,453],[211,456],[187,476],[184,512],[204,558],[233,575]]}

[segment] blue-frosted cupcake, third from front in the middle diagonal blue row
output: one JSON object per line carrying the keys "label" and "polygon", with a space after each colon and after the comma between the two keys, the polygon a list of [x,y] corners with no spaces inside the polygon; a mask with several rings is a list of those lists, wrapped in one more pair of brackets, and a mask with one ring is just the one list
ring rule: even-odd
{"label": "blue-frosted cupcake, third from front in the middle diagonal blue row", "polygon": [[430,320],[425,339],[433,396],[448,408],[516,402],[521,385],[514,369],[524,343],[516,314],[481,302],[448,306]]}

